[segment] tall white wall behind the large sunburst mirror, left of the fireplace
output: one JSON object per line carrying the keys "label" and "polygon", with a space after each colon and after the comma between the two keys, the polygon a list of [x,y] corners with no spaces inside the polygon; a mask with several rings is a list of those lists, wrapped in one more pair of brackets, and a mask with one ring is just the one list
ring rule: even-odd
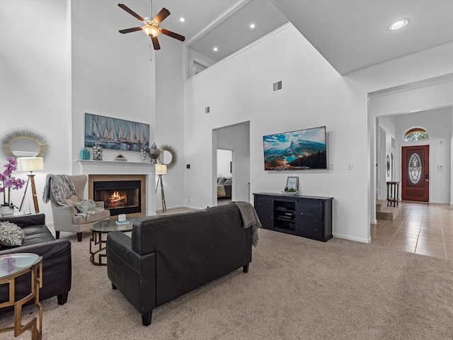
{"label": "tall white wall behind the large sunburst mirror, left of the fireplace", "polygon": [[[45,176],[67,173],[71,153],[71,116],[67,111],[68,3],[5,0],[0,6],[0,134],[28,128],[50,141],[45,169],[35,172],[35,183],[40,212],[52,221],[50,204],[42,202]],[[33,27],[33,35],[23,29],[25,26]],[[0,162],[3,166],[6,159]],[[28,179],[26,173],[15,172],[13,176]],[[21,205],[23,190],[12,191],[17,206]],[[34,212],[31,195],[24,210]]]}

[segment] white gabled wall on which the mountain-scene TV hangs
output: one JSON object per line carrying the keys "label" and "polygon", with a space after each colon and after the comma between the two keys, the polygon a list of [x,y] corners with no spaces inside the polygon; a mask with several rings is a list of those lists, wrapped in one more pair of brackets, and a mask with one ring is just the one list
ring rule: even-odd
{"label": "white gabled wall on which the mountain-scene TV hangs", "polygon": [[[283,90],[273,94],[280,80]],[[193,206],[212,205],[211,131],[249,120],[251,194],[278,193],[287,176],[299,176],[302,194],[334,198],[336,236],[367,242],[366,112],[366,97],[357,100],[354,87],[319,52],[293,26],[283,26],[186,81],[185,154],[193,166],[185,173],[186,195]],[[321,125],[333,170],[264,170],[263,135]]]}

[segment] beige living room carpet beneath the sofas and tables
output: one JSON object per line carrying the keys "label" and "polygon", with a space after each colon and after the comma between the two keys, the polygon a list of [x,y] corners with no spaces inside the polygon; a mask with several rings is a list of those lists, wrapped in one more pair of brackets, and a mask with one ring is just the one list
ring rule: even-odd
{"label": "beige living room carpet beneath the sofas and tables", "polygon": [[[43,302],[46,340],[453,339],[452,261],[260,229],[248,273],[238,269],[157,308],[144,327],[106,267],[89,261],[89,233],[83,242],[64,236],[73,286],[66,305]],[[12,321],[0,315],[0,327]]]}

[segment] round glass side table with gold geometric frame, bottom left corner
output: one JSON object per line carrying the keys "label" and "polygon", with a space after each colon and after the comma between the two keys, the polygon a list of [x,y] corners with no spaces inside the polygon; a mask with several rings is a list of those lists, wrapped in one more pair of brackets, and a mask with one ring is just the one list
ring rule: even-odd
{"label": "round glass side table with gold geometric frame, bottom left corner", "polygon": [[[15,283],[19,278],[31,273],[30,294],[15,301]],[[9,300],[0,302],[1,307],[14,306],[14,326],[0,329],[0,334],[14,331],[14,337],[21,335],[27,329],[31,331],[32,340],[42,339],[42,306],[40,304],[40,288],[42,288],[42,256],[30,253],[0,255],[0,285],[9,286]],[[35,306],[40,310],[40,324],[34,317],[22,326],[22,307],[30,300],[35,300]]]}

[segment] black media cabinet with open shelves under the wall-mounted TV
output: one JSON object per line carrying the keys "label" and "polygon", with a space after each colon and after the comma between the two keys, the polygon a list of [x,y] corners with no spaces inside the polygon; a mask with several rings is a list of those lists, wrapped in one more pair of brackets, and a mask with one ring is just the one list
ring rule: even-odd
{"label": "black media cabinet with open shelves under the wall-mounted TV", "polygon": [[332,238],[331,197],[254,193],[263,228],[326,242]]}

